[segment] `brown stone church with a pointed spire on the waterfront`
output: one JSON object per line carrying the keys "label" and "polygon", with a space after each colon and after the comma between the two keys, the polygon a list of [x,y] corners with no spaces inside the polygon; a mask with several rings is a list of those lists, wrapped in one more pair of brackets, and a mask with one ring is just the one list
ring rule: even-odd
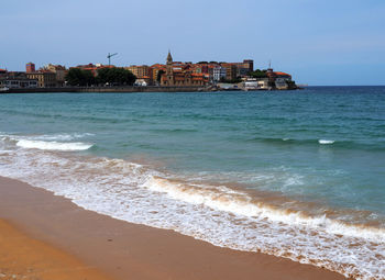
{"label": "brown stone church with a pointed spire on the waterfront", "polygon": [[209,81],[208,75],[194,72],[190,64],[174,63],[168,52],[166,72],[162,75],[161,85],[165,87],[202,87]]}

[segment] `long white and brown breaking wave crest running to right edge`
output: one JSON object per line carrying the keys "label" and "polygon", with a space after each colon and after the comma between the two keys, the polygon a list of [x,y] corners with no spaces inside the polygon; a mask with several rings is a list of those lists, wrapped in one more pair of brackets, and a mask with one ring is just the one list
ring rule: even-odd
{"label": "long white and brown breaking wave crest running to right edge", "polygon": [[246,193],[234,191],[227,187],[207,188],[199,184],[184,184],[164,178],[153,177],[147,181],[153,191],[166,192],[174,199],[194,204],[204,204],[211,209],[226,211],[235,215],[249,217],[262,217],[288,225],[301,225],[306,227],[322,227],[330,234],[339,234],[353,237],[364,237],[371,240],[385,242],[385,231],[376,227],[349,225],[322,216],[309,216],[301,212],[277,209],[262,201],[254,203]]}

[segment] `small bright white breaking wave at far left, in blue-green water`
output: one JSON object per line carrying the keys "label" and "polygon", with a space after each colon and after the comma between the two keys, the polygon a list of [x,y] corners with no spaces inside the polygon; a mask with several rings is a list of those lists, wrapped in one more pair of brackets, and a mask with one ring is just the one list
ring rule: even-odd
{"label": "small bright white breaking wave at far left, in blue-green water", "polygon": [[86,143],[66,143],[66,142],[46,142],[46,141],[32,141],[32,139],[20,139],[16,143],[16,146],[22,148],[37,148],[37,149],[46,149],[46,150],[86,150],[92,147],[92,144]]}

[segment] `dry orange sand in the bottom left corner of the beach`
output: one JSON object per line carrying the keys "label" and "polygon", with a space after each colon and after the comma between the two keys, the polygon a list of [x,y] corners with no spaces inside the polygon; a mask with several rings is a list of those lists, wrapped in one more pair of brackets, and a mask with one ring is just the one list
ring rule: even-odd
{"label": "dry orange sand in the bottom left corner of the beach", "polygon": [[112,279],[0,220],[0,279],[108,280]]}

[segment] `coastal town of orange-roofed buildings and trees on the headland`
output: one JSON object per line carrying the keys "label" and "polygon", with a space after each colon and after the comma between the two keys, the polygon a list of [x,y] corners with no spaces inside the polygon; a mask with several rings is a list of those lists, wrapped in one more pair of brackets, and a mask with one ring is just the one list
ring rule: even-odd
{"label": "coastal town of orange-roofed buildings and trees on the headland", "polygon": [[[131,65],[117,67],[108,65],[87,64],[73,67],[48,64],[36,68],[34,63],[25,65],[25,71],[9,71],[0,69],[0,90],[15,92],[35,92],[36,89],[119,88],[119,91],[131,89],[164,89],[175,88],[176,91],[217,91],[217,90],[290,90],[297,89],[289,74],[267,69],[254,69],[253,59],[240,63],[227,61],[175,61],[168,52],[165,64]],[[111,91],[111,90],[110,90]]]}

